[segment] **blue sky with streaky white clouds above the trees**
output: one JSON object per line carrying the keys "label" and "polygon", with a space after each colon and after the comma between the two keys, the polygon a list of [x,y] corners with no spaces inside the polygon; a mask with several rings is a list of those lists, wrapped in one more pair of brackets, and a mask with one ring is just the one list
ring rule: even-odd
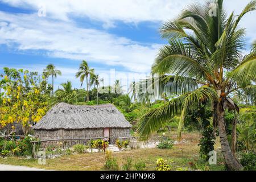
{"label": "blue sky with streaky white clouds above the trees", "polygon": [[[166,44],[158,29],[192,0],[0,0],[0,73],[3,67],[39,73],[52,63],[62,72],[55,80],[72,81],[82,60],[104,84],[129,82],[150,73],[158,49]],[[225,0],[228,14],[240,14],[250,1]],[[255,12],[246,28],[246,52],[256,40]]]}

